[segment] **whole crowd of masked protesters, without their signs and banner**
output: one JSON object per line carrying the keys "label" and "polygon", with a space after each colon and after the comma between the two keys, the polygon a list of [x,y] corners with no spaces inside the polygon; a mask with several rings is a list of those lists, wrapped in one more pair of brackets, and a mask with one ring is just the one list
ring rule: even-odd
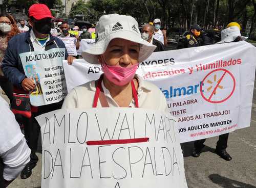
{"label": "whole crowd of masked protesters, without their signs and banner", "polygon": [[[141,33],[138,32],[135,18],[125,15],[103,15],[96,24],[96,31],[91,30],[92,32],[90,24],[71,29],[68,22],[53,23],[53,19],[49,8],[44,4],[34,4],[29,8],[29,25],[26,25],[26,20],[20,20],[20,25],[17,26],[10,14],[0,15],[0,86],[10,100],[11,109],[18,105],[14,98],[17,94],[29,95],[37,87],[36,75],[28,77],[25,74],[21,60],[23,53],[44,53],[63,48],[65,54],[57,59],[61,62],[68,60],[72,64],[75,57],[68,55],[65,44],[59,37],[76,38],[77,49],[80,39],[95,38],[95,45],[83,51],[82,58],[89,63],[101,65],[103,74],[98,80],[76,87],[65,100],[56,103],[33,106],[24,98],[24,102],[29,104],[30,117],[24,117],[23,113],[17,111],[14,116],[9,104],[0,97],[0,187],[8,186],[19,174],[22,179],[31,176],[38,162],[36,150],[40,126],[35,119],[38,115],[61,108],[132,107],[161,112],[167,108],[162,92],[136,74],[140,62],[153,52],[163,51],[167,46],[166,31],[161,30],[160,19],[143,25]],[[134,26],[126,30],[107,30],[113,22],[118,22],[123,28]],[[227,25],[222,30],[221,43],[244,40],[240,30],[240,25],[236,22]],[[184,47],[205,45],[201,31],[199,25],[192,25],[185,36]],[[19,125],[24,125],[25,135],[20,131]],[[226,152],[227,140],[228,134],[220,136],[216,151],[225,160],[231,160]],[[200,155],[204,141],[205,139],[195,142],[193,156]]]}

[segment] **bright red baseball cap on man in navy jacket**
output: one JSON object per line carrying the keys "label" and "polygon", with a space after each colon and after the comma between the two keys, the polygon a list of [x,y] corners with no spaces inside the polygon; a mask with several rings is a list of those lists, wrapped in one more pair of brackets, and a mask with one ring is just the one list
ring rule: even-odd
{"label": "bright red baseball cap on man in navy jacket", "polygon": [[45,4],[34,4],[29,8],[29,17],[33,16],[40,20],[44,18],[53,18],[50,9]]}

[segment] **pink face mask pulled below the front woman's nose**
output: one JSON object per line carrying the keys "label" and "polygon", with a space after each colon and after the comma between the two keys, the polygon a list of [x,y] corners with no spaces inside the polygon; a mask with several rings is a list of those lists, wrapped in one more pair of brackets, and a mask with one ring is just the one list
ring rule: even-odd
{"label": "pink face mask pulled below the front woman's nose", "polygon": [[102,71],[106,78],[110,80],[110,82],[114,83],[117,86],[124,86],[131,82],[134,78],[135,72],[138,69],[139,64],[133,65],[131,67],[118,67],[102,64]]}

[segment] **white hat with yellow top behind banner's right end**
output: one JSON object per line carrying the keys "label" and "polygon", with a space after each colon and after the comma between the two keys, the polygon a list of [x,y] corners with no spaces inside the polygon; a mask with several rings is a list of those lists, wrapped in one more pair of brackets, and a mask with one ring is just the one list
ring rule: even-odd
{"label": "white hat with yellow top behind banner's right end", "polygon": [[231,26],[221,31],[221,41],[217,42],[216,44],[232,42],[238,36],[240,36],[242,40],[246,40],[248,38],[241,36],[240,29],[238,28],[238,26]]}

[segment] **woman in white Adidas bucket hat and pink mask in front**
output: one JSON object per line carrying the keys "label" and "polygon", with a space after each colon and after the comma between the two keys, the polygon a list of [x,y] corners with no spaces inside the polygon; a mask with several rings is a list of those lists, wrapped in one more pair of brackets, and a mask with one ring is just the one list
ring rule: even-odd
{"label": "woman in white Adidas bucket hat and pink mask in front", "polygon": [[141,38],[133,17],[118,14],[100,17],[96,43],[83,51],[82,57],[89,63],[100,64],[103,74],[98,80],[73,89],[62,109],[135,107],[164,112],[167,104],[162,92],[135,74],[139,63],[155,48]]}

